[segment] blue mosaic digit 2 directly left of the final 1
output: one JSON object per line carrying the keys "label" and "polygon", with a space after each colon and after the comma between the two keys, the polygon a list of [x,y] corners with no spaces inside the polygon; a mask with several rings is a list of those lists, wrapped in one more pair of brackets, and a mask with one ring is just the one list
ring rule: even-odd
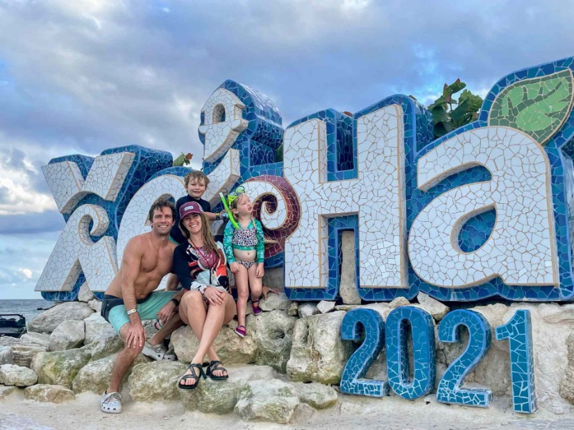
{"label": "blue mosaic digit 2 directly left of the final 1", "polygon": [[490,324],[484,316],[468,309],[457,309],[446,314],[439,324],[439,341],[460,342],[462,326],[469,331],[466,349],[444,372],[437,387],[441,403],[462,404],[487,408],[492,402],[491,390],[461,388],[464,379],[487,354],[491,344]]}

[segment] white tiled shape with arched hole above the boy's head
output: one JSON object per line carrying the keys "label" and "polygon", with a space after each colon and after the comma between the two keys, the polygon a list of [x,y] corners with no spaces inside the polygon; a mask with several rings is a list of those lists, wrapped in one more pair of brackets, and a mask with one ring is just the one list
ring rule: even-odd
{"label": "white tiled shape with arched hole above the boy's head", "polygon": [[[249,121],[242,118],[245,105],[227,89],[218,88],[205,102],[201,112],[203,125],[199,132],[205,135],[203,160],[214,162],[233,146],[239,133],[247,128]],[[225,121],[221,121],[221,113]]]}

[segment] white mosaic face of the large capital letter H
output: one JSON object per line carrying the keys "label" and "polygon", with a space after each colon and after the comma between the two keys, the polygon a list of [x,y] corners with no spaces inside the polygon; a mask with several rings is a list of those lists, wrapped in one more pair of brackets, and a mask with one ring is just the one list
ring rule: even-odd
{"label": "white mosaic face of the large capital letter H", "polygon": [[358,178],[326,182],[326,124],[311,119],[285,131],[285,178],[301,204],[285,243],[285,286],[326,288],[327,217],[358,214],[361,286],[408,288],[403,145],[399,105],[367,114],[357,120]]}

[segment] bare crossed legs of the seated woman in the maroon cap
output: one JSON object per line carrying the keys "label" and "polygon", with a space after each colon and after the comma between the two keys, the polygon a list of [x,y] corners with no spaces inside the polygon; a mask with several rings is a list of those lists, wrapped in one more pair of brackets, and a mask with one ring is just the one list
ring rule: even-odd
{"label": "bare crossed legs of the seated woman in the maroon cap", "polygon": [[[219,334],[221,327],[235,316],[233,298],[226,294],[223,304],[208,307],[199,291],[188,291],[181,299],[179,312],[183,322],[192,327],[196,338],[199,339],[199,347],[192,363],[202,363],[205,354],[208,354],[211,361],[219,360],[213,347],[213,341]],[[186,375],[190,373],[190,370],[185,372]],[[223,372],[219,372],[219,375],[215,376],[223,376]],[[185,384],[192,385],[193,381],[187,379]]]}

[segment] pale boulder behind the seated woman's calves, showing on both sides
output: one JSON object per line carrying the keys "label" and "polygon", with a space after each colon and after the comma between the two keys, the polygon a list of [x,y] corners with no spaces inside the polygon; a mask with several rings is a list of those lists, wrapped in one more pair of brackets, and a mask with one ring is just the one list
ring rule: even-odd
{"label": "pale boulder behind the seated woman's calves, showing on both sides", "polygon": [[[219,355],[223,365],[237,365],[255,363],[257,359],[257,346],[253,333],[247,333],[245,338],[240,338],[235,334],[237,321],[232,320],[229,325],[221,327],[221,331],[215,338],[213,346]],[[189,326],[180,327],[171,334],[171,343],[179,361],[190,363],[195,356],[199,341]],[[208,356],[205,355],[205,361]]]}

